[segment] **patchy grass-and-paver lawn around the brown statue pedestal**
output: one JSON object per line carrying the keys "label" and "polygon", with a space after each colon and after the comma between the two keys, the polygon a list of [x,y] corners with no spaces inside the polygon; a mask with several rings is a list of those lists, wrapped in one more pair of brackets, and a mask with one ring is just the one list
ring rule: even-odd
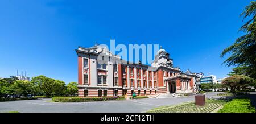
{"label": "patchy grass-and-paver lawn around the brown statue pedestal", "polygon": [[162,106],[147,113],[210,113],[213,110],[220,108],[226,102],[224,100],[207,100],[205,106],[196,106],[195,102],[188,102],[185,104],[175,106]]}

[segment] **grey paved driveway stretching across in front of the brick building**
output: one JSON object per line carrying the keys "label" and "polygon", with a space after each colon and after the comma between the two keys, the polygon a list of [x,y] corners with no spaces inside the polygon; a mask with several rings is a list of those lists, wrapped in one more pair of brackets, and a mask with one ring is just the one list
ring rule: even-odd
{"label": "grey paved driveway stretching across in front of the brick building", "polygon": [[[217,97],[216,93],[208,93],[207,97]],[[163,105],[176,105],[182,102],[194,101],[195,96],[189,97],[166,97],[166,98],[146,98],[141,100],[123,101],[97,101],[97,102],[47,102],[51,99],[43,100],[20,100],[10,102],[0,102],[0,112],[143,112]]]}

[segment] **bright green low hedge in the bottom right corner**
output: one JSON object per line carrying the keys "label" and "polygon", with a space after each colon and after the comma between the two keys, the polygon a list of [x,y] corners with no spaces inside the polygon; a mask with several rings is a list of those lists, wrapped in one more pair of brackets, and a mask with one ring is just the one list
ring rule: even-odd
{"label": "bright green low hedge in the bottom right corner", "polygon": [[219,113],[255,113],[249,98],[236,98],[223,106]]}

